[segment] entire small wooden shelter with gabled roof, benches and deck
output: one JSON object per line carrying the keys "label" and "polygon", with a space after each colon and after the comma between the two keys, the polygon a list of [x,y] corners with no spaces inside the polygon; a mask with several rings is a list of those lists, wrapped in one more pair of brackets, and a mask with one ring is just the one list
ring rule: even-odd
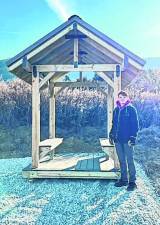
{"label": "entire small wooden shelter with gabled roof, benches and deck", "polygon": [[[100,139],[102,152],[99,154],[63,155],[56,152],[63,138],[56,137],[55,99],[66,87],[97,88],[107,96],[109,131],[118,91],[139,74],[144,63],[143,59],[77,15],[9,59],[9,70],[32,85],[32,165],[23,170],[23,176],[117,179],[118,160],[108,137]],[[69,72],[79,72],[79,81],[59,80]],[[95,72],[103,81],[84,82],[83,72]],[[41,141],[40,93],[45,88],[49,90],[49,137]]]}

